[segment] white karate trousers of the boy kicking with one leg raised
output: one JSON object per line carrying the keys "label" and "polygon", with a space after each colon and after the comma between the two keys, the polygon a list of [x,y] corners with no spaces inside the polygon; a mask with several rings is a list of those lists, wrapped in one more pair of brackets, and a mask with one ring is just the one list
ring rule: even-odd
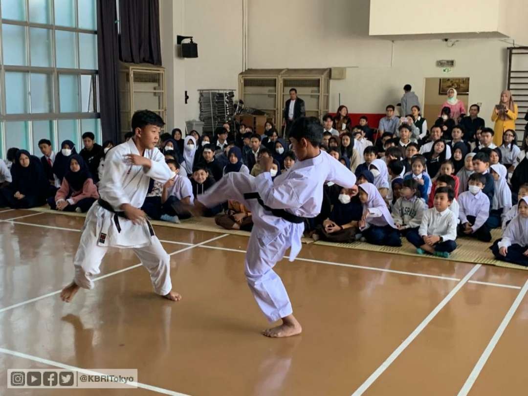
{"label": "white karate trousers of the boy kicking with one leg raised", "polygon": [[293,309],[286,288],[273,267],[290,248],[291,235],[302,235],[304,224],[289,223],[274,240],[269,243],[263,242],[257,235],[259,228],[265,227],[265,225],[257,217],[263,213],[264,209],[257,200],[244,199],[244,193],[252,192],[257,192],[253,176],[230,172],[204,194],[199,195],[197,200],[209,208],[227,200],[235,200],[251,210],[254,225],[244,262],[246,279],[262,313],[269,322],[275,322],[291,315]]}

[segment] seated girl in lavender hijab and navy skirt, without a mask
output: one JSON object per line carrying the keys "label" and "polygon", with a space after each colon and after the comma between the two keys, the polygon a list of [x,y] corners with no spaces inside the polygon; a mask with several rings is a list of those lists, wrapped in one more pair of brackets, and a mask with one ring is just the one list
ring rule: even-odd
{"label": "seated girl in lavender hijab and navy skirt, without a mask", "polygon": [[360,184],[359,196],[363,204],[363,216],[358,222],[358,227],[366,242],[401,246],[400,233],[378,188],[371,183]]}

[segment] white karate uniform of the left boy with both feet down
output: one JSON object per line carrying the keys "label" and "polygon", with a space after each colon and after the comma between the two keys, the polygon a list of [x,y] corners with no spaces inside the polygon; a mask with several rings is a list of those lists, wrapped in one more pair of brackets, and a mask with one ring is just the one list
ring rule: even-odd
{"label": "white karate uniform of the left boy with both feet down", "polygon": [[[166,183],[171,177],[171,169],[165,164],[165,157],[157,148],[145,150],[143,154],[152,163],[147,172],[143,166],[127,163],[126,154],[139,155],[133,139],[107,153],[99,185],[101,199],[116,211],[125,203],[141,208],[150,178]],[[103,209],[97,201],[92,205],[86,215],[79,248],[73,260],[74,282],[82,288],[92,289],[91,277],[99,274],[101,260],[108,248],[131,248],[148,270],[155,292],[162,296],[168,294],[172,289],[170,257],[158,238],[150,234],[150,224],[145,222],[136,225],[123,217],[119,217],[117,223],[114,213]]]}

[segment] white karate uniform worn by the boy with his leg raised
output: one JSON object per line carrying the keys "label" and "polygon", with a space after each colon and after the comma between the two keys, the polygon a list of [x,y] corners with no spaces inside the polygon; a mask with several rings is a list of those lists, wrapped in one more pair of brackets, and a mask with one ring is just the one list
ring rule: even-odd
{"label": "white karate uniform worn by the boy with his leg raised", "polygon": [[272,209],[284,209],[303,218],[314,218],[323,202],[323,184],[334,182],[351,188],[356,177],[326,152],[296,161],[286,173],[271,180],[269,172],[253,177],[230,172],[197,200],[210,208],[226,200],[235,200],[251,210],[253,231],[246,253],[246,278],[257,303],[270,322],[293,313],[288,293],[273,267],[288,248],[290,261],[301,250],[304,223],[291,223],[261,206],[257,199],[245,199],[244,193],[259,193]]}

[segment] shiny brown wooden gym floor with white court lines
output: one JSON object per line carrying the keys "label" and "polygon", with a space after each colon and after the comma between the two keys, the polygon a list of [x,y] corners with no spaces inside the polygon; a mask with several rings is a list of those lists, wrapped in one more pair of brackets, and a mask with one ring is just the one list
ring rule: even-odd
{"label": "shiny brown wooden gym floor with white court lines", "polygon": [[60,301],[84,219],[0,210],[0,394],[7,369],[137,369],[134,390],[72,395],[520,395],[528,272],[308,244],[276,267],[304,332],[268,327],[243,271],[247,237],[155,227],[180,303],[131,251]]}

